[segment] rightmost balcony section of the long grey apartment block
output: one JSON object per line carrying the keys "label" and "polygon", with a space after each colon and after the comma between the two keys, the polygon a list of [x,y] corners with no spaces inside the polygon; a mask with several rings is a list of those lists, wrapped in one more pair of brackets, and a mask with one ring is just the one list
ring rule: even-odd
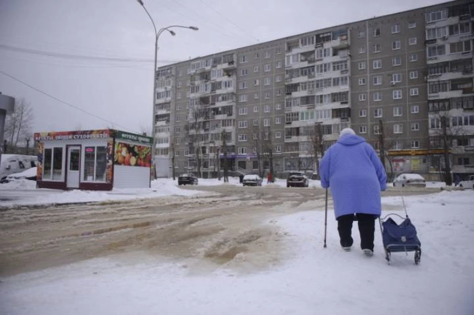
{"label": "rightmost balcony section of the long grey apartment block", "polygon": [[444,141],[453,174],[474,173],[474,2],[450,2],[425,15],[430,171],[444,169]]}

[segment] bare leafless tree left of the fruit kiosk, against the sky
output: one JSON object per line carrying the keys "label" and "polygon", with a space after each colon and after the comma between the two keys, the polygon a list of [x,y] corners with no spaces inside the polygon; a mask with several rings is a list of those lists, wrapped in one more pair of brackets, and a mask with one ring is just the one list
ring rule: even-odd
{"label": "bare leafless tree left of the fruit kiosk, against the sky", "polygon": [[20,141],[31,138],[34,120],[33,108],[29,102],[20,98],[15,103],[15,111],[7,114],[5,120],[5,139],[12,148],[16,148]]}

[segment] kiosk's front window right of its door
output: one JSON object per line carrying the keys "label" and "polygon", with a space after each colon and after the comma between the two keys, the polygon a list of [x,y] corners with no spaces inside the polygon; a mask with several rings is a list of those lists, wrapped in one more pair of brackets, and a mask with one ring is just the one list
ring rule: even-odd
{"label": "kiosk's front window right of its door", "polygon": [[84,148],[84,181],[105,182],[107,147]]}

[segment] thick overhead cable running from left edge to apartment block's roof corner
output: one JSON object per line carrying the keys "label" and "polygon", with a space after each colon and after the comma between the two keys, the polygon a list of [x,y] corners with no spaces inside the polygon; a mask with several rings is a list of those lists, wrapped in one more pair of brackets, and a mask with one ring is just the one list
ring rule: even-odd
{"label": "thick overhead cable running from left edge to apartment block's roof corner", "polygon": [[[118,62],[155,62],[154,59],[144,59],[144,58],[114,58],[114,57],[97,57],[97,56],[88,56],[80,54],[69,54],[53,51],[44,51],[23,47],[10,46],[5,44],[0,44],[0,49],[16,51],[16,52],[25,52],[30,54],[48,56],[48,57],[59,57],[67,59],[76,59],[76,60],[100,60],[100,61],[118,61]],[[175,63],[182,60],[157,60],[159,63]]]}

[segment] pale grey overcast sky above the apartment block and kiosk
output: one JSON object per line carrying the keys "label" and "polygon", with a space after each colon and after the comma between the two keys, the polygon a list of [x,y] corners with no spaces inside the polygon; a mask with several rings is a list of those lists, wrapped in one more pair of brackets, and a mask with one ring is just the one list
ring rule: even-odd
{"label": "pale grey overcast sky above the apartment block and kiosk", "polygon": [[[304,33],[439,0],[143,0],[157,27],[193,25],[159,39],[158,65]],[[0,0],[0,92],[31,103],[33,131],[151,130],[153,26],[136,0]],[[143,59],[111,62],[11,51]]]}

